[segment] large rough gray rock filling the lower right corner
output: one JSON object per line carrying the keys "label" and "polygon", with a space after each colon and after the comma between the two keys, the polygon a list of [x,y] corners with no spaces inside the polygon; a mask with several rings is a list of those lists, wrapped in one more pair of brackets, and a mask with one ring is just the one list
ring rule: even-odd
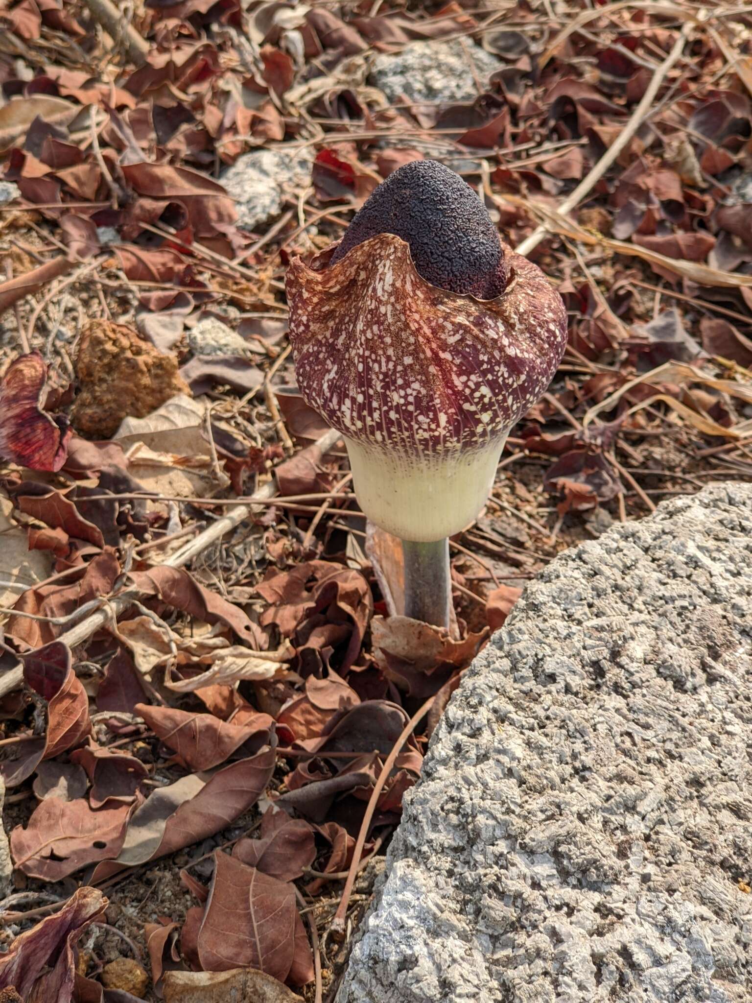
{"label": "large rough gray rock filling the lower right corner", "polygon": [[337,1003],[749,1001],[751,878],[752,485],[728,483],[528,585],[436,729]]}

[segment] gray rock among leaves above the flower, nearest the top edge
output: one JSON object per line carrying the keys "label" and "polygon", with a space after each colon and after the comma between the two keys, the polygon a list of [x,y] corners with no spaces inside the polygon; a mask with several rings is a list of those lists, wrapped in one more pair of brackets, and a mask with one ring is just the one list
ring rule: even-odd
{"label": "gray rock among leaves above the flower, nearest the top edge", "polygon": [[472,67],[481,84],[503,63],[470,40],[412,42],[396,55],[377,56],[371,66],[369,83],[383,90],[390,101],[404,96],[409,101],[473,101],[478,88]]}

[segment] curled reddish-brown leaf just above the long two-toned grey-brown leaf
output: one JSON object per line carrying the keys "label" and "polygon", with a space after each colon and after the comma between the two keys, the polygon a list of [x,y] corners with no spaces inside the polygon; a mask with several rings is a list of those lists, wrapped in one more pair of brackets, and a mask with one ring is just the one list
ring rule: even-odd
{"label": "curled reddish-brown leaf just above the long two-toned grey-brown leaf", "polygon": [[135,712],[191,769],[219,766],[247,742],[250,747],[244,751],[247,755],[253,754],[269,741],[269,727],[260,729],[255,723],[239,727],[226,724],[213,714],[150,707],[145,703],[136,704]]}

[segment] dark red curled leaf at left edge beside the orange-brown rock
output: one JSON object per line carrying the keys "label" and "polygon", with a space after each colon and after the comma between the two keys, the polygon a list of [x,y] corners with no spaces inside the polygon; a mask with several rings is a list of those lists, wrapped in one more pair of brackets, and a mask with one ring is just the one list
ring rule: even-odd
{"label": "dark red curled leaf at left edge beside the orange-brown rock", "polygon": [[72,434],[68,419],[39,406],[47,367],[39,352],[8,366],[0,383],[0,456],[32,470],[59,470]]}

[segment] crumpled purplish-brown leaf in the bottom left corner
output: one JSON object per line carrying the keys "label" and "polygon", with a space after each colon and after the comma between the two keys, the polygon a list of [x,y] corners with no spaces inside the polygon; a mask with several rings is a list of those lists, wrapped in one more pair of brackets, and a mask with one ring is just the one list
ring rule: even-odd
{"label": "crumpled purplish-brown leaf in the bottom left corner", "polygon": [[15,938],[0,959],[0,988],[15,987],[27,1003],[70,1003],[76,942],[106,906],[98,889],[79,888],[54,916]]}

